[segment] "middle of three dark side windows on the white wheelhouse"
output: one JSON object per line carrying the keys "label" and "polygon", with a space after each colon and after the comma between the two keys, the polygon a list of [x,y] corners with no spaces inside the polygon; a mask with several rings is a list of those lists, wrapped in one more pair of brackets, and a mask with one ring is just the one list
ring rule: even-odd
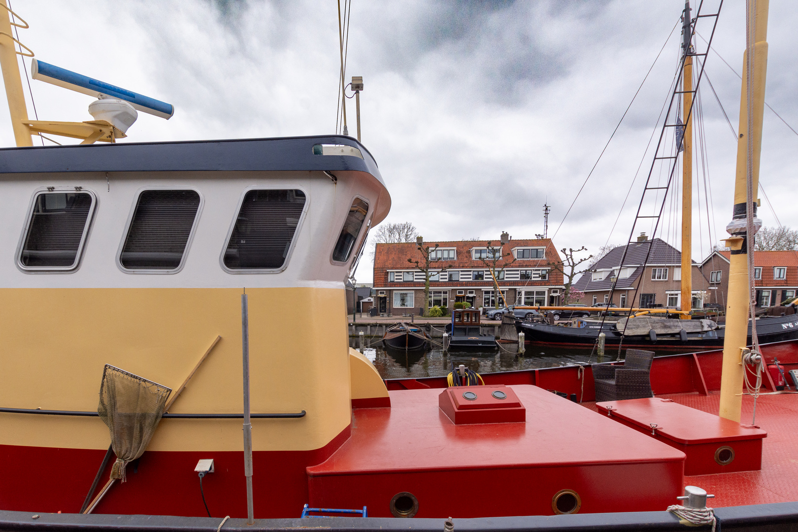
{"label": "middle of three dark side windows on the white wheelhouse", "polygon": [[199,211],[196,191],[143,191],[119,255],[125,270],[177,270]]}

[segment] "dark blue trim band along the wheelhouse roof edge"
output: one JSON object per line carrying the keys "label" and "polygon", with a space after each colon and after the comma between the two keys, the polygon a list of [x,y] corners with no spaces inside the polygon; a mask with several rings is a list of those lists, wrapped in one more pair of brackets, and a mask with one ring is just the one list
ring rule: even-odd
{"label": "dark blue trim band along the wheelhouse roof edge", "polygon": [[[315,156],[314,144],[346,144],[354,156]],[[189,140],[0,148],[0,175],[77,171],[364,171],[382,183],[377,162],[348,136]]]}

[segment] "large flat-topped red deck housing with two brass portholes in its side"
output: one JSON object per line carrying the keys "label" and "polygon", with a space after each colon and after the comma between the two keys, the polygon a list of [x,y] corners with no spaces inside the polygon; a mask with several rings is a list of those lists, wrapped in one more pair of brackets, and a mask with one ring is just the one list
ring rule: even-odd
{"label": "large flat-topped red deck housing with two brass portholes in its side", "polygon": [[350,439],[307,468],[310,506],[389,517],[391,499],[409,492],[417,517],[480,517],[553,514],[561,490],[588,513],[662,510],[681,495],[681,451],[543,388],[512,389],[526,423],[453,424],[438,408],[441,388],[355,409]]}

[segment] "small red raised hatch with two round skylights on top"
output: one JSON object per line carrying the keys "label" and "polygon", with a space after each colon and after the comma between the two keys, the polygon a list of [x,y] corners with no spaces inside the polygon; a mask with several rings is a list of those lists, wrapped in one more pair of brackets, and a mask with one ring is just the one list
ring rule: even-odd
{"label": "small red raised hatch with two round skylights on top", "polygon": [[512,388],[494,386],[452,386],[440,392],[438,406],[453,424],[523,423],[527,409]]}

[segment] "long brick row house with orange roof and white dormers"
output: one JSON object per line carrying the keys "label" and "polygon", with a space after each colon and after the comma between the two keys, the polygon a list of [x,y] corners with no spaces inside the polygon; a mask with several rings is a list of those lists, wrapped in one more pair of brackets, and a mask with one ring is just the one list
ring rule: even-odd
{"label": "long brick row house with orange roof and white dormers", "polygon": [[[493,247],[500,242],[491,241]],[[433,247],[437,260],[447,267],[430,269],[429,305],[454,308],[457,301],[467,301],[473,307],[496,305],[491,272],[479,260],[487,257],[488,241],[459,240],[452,242],[424,242]],[[508,305],[559,305],[563,294],[563,274],[553,270],[551,263],[562,265],[559,254],[550,238],[536,240],[510,240],[501,246],[501,253],[512,252],[512,257],[497,263],[497,270],[516,260],[501,272],[498,279]],[[377,244],[374,250],[375,305],[380,313],[419,313],[424,307],[425,274],[414,269],[408,258],[423,257],[415,242]],[[492,262],[489,262],[492,264]],[[562,266],[560,266],[562,267]]]}

